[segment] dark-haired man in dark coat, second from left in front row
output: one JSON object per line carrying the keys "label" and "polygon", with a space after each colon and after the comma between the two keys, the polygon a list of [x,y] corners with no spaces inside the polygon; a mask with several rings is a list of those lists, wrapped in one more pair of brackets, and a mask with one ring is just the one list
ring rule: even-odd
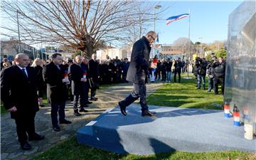
{"label": "dark-haired man in dark coat, second from left in front row", "polygon": [[61,54],[54,53],[52,62],[43,68],[43,78],[50,87],[50,116],[52,119],[53,130],[60,131],[58,125],[58,115],[60,124],[70,124],[65,119],[65,101],[68,99],[68,70],[62,65]]}

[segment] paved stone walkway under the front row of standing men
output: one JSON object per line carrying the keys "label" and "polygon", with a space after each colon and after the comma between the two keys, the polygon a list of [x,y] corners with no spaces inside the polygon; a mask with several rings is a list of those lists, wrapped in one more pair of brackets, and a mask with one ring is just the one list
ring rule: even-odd
{"label": "paved stone walkway under the front row of standing men", "polygon": [[[147,95],[161,87],[162,84],[151,83],[147,85]],[[72,124],[60,124],[60,132],[55,132],[52,129],[50,106],[41,107],[41,110],[36,114],[36,132],[44,135],[45,139],[38,142],[29,142],[32,146],[32,149],[29,151],[20,149],[14,119],[11,119],[10,114],[1,114],[1,159],[29,159],[35,154],[40,154],[50,149],[50,147],[55,146],[58,142],[62,142],[75,134],[80,127],[85,126],[85,124],[95,119],[95,117],[108,108],[115,107],[117,102],[124,99],[131,91],[132,84],[119,84],[97,91],[96,96],[99,100],[93,102],[87,108],[90,112],[83,113],[80,117],[73,115],[73,106],[68,102],[65,114],[66,119],[70,120]]]}

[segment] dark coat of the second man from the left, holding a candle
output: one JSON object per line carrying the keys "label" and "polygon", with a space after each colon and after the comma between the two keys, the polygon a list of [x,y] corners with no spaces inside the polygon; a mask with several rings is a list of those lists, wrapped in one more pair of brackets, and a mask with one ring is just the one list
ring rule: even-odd
{"label": "dark coat of the second man from the left, holding a candle", "polygon": [[65,102],[68,99],[68,87],[62,82],[65,78],[64,65],[60,65],[60,70],[53,63],[49,63],[43,68],[43,78],[50,87],[50,102]]}

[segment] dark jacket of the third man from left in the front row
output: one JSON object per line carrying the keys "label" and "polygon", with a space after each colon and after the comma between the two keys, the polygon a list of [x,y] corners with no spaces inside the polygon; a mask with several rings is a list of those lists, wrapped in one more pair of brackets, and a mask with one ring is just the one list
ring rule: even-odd
{"label": "dark jacket of the third man from left in the front row", "polygon": [[83,63],[81,63],[81,67],[75,63],[70,65],[68,75],[70,80],[72,80],[71,88],[73,95],[85,94],[87,92],[87,82],[81,82],[85,72],[88,72],[88,68]]}

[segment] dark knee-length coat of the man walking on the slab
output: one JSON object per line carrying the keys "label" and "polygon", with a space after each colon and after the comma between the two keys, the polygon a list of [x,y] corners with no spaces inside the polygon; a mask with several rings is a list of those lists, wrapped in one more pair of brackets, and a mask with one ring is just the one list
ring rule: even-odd
{"label": "dark knee-length coat of the man walking on the slab", "polygon": [[134,43],[132,48],[131,62],[127,72],[127,80],[136,84],[145,84],[149,69],[149,53],[151,47],[146,37],[142,37]]}

